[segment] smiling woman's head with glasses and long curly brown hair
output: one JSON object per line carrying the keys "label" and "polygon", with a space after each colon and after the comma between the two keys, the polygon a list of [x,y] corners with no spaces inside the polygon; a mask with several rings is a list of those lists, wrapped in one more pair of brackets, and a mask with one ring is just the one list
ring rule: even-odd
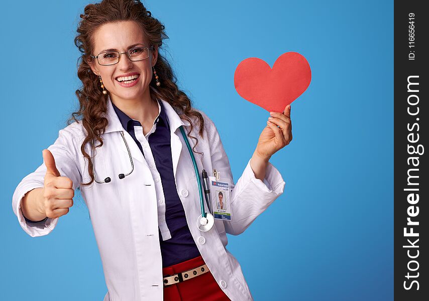
{"label": "smiling woman's head with glasses and long curly brown hair", "polygon": [[[144,129],[157,115],[156,95],[168,99],[171,106],[182,112],[181,118],[189,122],[190,118],[197,118],[198,132],[202,134],[202,115],[178,89],[170,64],[159,54],[163,40],[168,38],[165,27],[139,1],[103,1],[87,5],[80,17],[75,44],[82,53],[77,75],[83,86],[76,91],[80,108],[69,122],[82,120],[88,132],[83,143],[97,139],[102,145],[100,134],[106,126],[102,115],[107,110],[108,96],[128,116],[139,120]],[[136,55],[139,49],[143,50]],[[128,78],[130,76],[135,80]],[[192,131],[196,123],[190,123]],[[189,137],[198,143],[197,137]],[[91,178],[82,185],[90,185],[92,162],[83,148],[82,154],[88,159]]]}

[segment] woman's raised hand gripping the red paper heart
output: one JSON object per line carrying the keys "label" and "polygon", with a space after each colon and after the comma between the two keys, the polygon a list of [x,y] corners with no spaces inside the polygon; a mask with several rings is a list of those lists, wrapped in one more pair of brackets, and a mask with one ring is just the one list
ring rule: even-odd
{"label": "woman's raised hand gripping the red paper heart", "polygon": [[[255,153],[259,158],[268,161],[277,150],[292,140],[292,121],[290,120],[290,104],[283,113],[271,112],[267,126],[262,130],[256,145]],[[277,125],[279,127],[277,127]]]}

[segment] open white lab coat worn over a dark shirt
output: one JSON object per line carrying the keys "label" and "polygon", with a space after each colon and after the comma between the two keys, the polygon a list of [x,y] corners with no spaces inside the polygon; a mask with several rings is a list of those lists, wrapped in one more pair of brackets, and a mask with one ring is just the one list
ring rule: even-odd
{"label": "open white lab coat worn over a dark shirt", "polygon": [[[201,210],[198,186],[190,155],[178,128],[184,125],[187,131],[189,122],[181,120],[168,102],[161,101],[170,122],[177,192],[192,237],[209,270],[229,298],[252,300],[240,264],[225,248],[228,243],[226,233],[242,233],[283,193],[285,182],[270,163],[264,181],[256,179],[249,160],[234,185],[230,163],[216,126],[199,111],[204,117],[204,138],[198,136],[196,126],[192,132],[193,136],[198,137],[196,150],[204,153],[203,156],[194,153],[198,170],[201,173],[205,169],[211,174],[216,169],[221,172],[221,178],[230,180],[233,216],[232,222],[216,220],[210,231],[199,231],[197,218]],[[150,167],[131,135],[122,127],[110,98],[106,117],[109,125],[102,134],[104,145],[96,149],[95,173],[98,181],[109,176],[112,182],[93,182],[89,187],[80,186],[81,181],[86,183],[89,180],[87,165],[80,152],[85,135],[81,122],[74,122],[61,129],[59,137],[48,149],[55,158],[61,176],[73,181],[73,189],[80,186],[88,207],[108,287],[104,300],[162,300],[163,275],[158,227],[161,228],[162,223],[165,223],[165,202],[160,204],[157,201]],[[124,131],[134,161],[134,171],[125,179],[119,179],[118,175],[127,174],[131,170],[131,162],[120,131]],[[195,141],[192,138],[188,140],[193,147]],[[89,143],[86,147],[87,153],[91,154]],[[146,142],[142,147],[149,145]],[[39,224],[26,223],[20,210],[22,197],[34,188],[43,187],[45,173],[46,167],[42,164],[19,183],[13,195],[13,209],[18,221],[32,237],[49,234],[59,219],[48,218]]]}

